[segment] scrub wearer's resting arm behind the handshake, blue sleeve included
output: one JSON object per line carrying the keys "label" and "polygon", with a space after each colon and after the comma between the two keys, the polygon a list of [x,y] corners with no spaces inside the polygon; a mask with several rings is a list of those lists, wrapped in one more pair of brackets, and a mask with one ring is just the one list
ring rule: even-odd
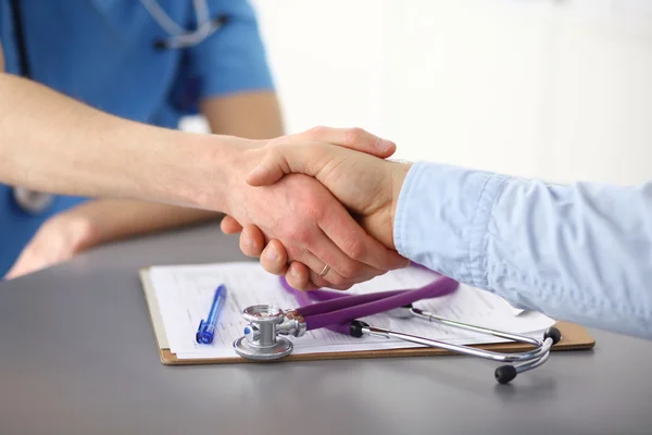
{"label": "scrub wearer's resting arm behind the handshake, blue sleeve included", "polygon": [[[184,70],[187,75],[201,77],[203,98],[199,105],[212,133],[271,139],[283,135],[279,104],[253,11],[244,2],[238,3],[235,1],[228,11],[221,11],[228,14],[226,24],[190,50],[192,63],[183,67],[189,69]],[[185,85],[187,83],[179,84]],[[15,277],[67,260],[116,238],[218,216],[221,214],[199,209],[133,200],[90,201],[46,222],[7,276]]]}

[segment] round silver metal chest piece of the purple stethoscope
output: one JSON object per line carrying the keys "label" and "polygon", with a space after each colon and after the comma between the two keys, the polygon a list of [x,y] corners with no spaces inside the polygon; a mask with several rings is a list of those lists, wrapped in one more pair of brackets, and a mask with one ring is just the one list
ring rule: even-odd
{"label": "round silver metal chest piece of the purple stethoscope", "polygon": [[243,358],[252,360],[276,360],[292,352],[292,341],[278,336],[277,327],[285,321],[281,309],[267,306],[252,306],[242,311],[249,322],[244,336],[234,341],[234,349]]}

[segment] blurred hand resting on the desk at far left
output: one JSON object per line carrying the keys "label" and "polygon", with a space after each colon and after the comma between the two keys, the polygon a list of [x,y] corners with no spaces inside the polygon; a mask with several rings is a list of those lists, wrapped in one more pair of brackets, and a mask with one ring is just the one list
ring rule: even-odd
{"label": "blurred hand resting on the desk at far left", "polygon": [[4,276],[16,278],[70,260],[90,248],[93,228],[88,220],[61,213],[46,221]]}

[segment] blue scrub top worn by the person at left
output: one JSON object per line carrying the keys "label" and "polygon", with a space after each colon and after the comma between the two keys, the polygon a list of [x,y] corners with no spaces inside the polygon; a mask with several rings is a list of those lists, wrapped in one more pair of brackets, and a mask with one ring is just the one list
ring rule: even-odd
{"label": "blue scrub top worn by the person at left", "polygon": [[[18,74],[10,3],[0,0],[0,42],[7,72]],[[177,24],[196,28],[191,0],[159,4]],[[273,88],[246,0],[209,0],[211,17],[222,15],[225,24],[183,50],[153,47],[168,35],[137,0],[23,0],[22,5],[33,78],[118,116],[175,128],[180,116],[197,113],[202,98]],[[83,200],[58,197],[33,216],[0,184],[0,279],[46,219]]]}

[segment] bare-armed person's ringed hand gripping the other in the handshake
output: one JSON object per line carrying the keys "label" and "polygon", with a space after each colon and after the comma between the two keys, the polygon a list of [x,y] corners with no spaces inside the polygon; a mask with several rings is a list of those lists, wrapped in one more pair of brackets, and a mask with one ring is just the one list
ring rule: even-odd
{"label": "bare-armed person's ringed hand gripping the other in the handshake", "polygon": [[[268,150],[286,144],[301,147],[330,147],[330,144],[364,149],[386,158],[396,146],[361,129],[316,128],[301,135],[286,136],[266,142],[264,147],[252,147],[231,167],[230,185],[227,186],[226,212],[235,221],[256,229],[256,236],[266,240],[279,240],[279,250],[274,245],[266,254],[271,261],[297,261],[305,264],[314,275],[313,283],[331,288],[348,288],[361,281],[369,279],[389,270],[408,265],[408,260],[388,249],[365,233],[347,209],[317,181],[305,175],[293,175],[269,186],[254,187],[246,182]],[[338,147],[334,147],[339,149]],[[376,158],[374,158],[376,159]],[[383,161],[380,159],[376,159]],[[230,220],[231,222],[235,222]],[[227,220],[226,226],[228,226]],[[224,226],[223,226],[224,228]],[[238,225],[237,231],[241,227]],[[227,232],[234,233],[234,232]],[[242,250],[260,250],[247,246],[242,238]],[[285,247],[285,248],[284,248]],[[325,265],[329,270],[318,276]],[[305,270],[304,272],[306,272]]]}

